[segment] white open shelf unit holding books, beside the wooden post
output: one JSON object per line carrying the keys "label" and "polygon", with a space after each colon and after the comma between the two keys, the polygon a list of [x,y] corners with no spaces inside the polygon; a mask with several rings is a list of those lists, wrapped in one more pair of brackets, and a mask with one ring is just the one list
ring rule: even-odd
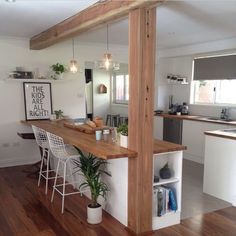
{"label": "white open shelf unit holding books, beside the wooden post", "polygon": [[[159,175],[160,169],[168,162],[172,170],[170,179],[160,179],[160,182],[153,183],[153,188],[157,186],[169,186],[175,189],[177,211],[168,212],[162,216],[153,216],[152,229],[157,230],[171,225],[179,224],[181,217],[181,195],[182,195],[182,164],[183,151],[155,154],[153,156],[153,174]],[[154,196],[154,193],[153,193]],[[154,201],[153,201],[154,204]],[[154,211],[154,205],[153,205]],[[153,213],[154,214],[154,213]]]}

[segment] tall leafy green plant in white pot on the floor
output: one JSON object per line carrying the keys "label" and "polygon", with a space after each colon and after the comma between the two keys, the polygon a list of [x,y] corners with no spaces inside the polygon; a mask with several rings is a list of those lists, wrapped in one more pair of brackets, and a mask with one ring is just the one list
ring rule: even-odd
{"label": "tall leafy green plant in white pot on the floor", "polygon": [[108,186],[101,179],[101,175],[111,176],[105,171],[106,160],[102,160],[93,154],[85,155],[80,149],[76,148],[80,154],[79,160],[74,160],[76,171],[81,172],[84,181],[80,184],[81,191],[89,188],[91,192],[91,203],[87,206],[87,221],[90,224],[102,222],[102,206],[98,203],[98,197],[106,198],[109,191]]}

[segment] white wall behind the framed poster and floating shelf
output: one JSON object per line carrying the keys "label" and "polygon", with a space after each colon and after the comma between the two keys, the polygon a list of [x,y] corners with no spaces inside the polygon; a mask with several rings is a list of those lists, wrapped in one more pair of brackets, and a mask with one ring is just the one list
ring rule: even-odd
{"label": "white wall behind the framed poster and floating shelf", "polygon": [[[65,115],[85,117],[84,62],[98,60],[104,52],[104,45],[75,45],[75,57],[80,65],[80,73],[67,73],[63,81],[52,81],[53,109],[62,109]],[[111,45],[113,57],[119,61],[127,60],[127,50]],[[71,60],[71,41],[50,48],[32,51],[29,42],[22,38],[0,37],[0,167],[33,163],[39,151],[35,142],[23,140],[16,135],[18,131],[31,129],[22,125],[24,102],[22,81],[6,80],[8,73],[16,66],[26,70],[39,71],[40,76],[49,76],[49,66],[56,63],[68,65]],[[119,53],[120,52],[120,53]],[[82,66],[81,66],[82,65]]]}

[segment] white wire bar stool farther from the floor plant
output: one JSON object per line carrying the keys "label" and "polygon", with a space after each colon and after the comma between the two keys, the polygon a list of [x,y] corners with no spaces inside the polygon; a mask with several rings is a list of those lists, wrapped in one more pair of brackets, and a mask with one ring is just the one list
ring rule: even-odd
{"label": "white wire bar stool farther from the floor plant", "polygon": [[[50,152],[49,152],[49,143],[48,143],[47,133],[45,130],[39,127],[36,127],[34,125],[32,125],[32,129],[34,132],[36,143],[38,144],[41,150],[41,165],[40,165],[40,171],[39,171],[38,186],[40,186],[41,177],[43,177],[46,180],[45,194],[47,194],[48,193],[48,180],[55,178],[55,177],[49,177],[49,172],[52,172],[53,170],[49,170]],[[43,164],[45,163],[46,163],[46,170],[43,170]]]}

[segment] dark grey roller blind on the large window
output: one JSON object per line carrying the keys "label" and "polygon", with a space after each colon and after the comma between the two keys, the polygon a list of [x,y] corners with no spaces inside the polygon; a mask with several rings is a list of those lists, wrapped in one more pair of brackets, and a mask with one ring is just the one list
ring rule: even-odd
{"label": "dark grey roller blind on the large window", "polygon": [[236,79],[236,55],[194,59],[193,80]]}

